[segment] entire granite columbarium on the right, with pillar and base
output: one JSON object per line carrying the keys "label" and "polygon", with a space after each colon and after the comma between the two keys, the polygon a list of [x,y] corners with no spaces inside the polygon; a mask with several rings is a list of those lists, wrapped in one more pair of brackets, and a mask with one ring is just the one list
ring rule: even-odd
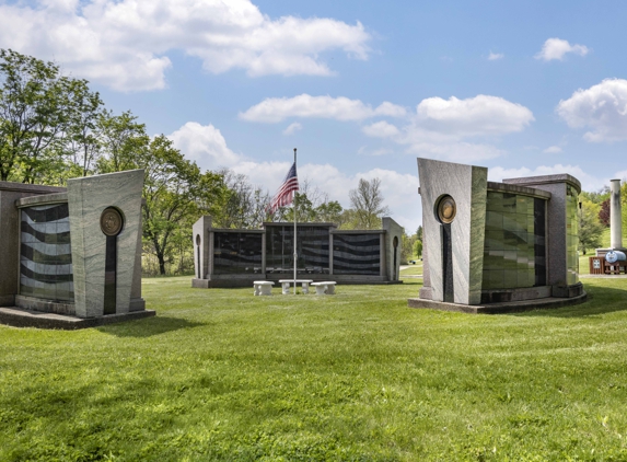
{"label": "entire granite columbarium on the right, with pillar and base", "polygon": [[418,159],[423,287],[415,308],[516,311],[585,299],[569,174],[488,182],[481,166]]}

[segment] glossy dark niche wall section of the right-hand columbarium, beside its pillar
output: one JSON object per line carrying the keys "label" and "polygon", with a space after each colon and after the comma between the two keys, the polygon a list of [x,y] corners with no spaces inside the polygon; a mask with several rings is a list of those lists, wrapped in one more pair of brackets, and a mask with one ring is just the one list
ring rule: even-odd
{"label": "glossy dark niche wall section of the right-hand columbarium, beside its pillar", "polygon": [[579,293],[579,182],[570,175],[506,182],[487,183],[483,302],[516,289]]}

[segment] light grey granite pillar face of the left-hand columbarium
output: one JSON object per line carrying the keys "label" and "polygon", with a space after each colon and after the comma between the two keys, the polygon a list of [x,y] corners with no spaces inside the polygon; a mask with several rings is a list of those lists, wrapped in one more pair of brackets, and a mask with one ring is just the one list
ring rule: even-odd
{"label": "light grey granite pillar face of the left-hand columbarium", "polygon": [[68,180],[77,316],[103,315],[106,235],[100,219],[107,207],[117,208],[125,220],[117,236],[116,313],[130,311],[131,291],[137,296],[142,188],[143,170]]}

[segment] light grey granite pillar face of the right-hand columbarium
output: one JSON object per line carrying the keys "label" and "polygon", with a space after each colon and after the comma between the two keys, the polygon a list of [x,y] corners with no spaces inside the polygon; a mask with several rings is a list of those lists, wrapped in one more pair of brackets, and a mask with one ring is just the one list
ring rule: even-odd
{"label": "light grey granite pillar face of the right-hand columbarium", "polygon": [[444,300],[442,224],[436,207],[450,195],[456,204],[451,222],[453,300],[478,304],[481,298],[486,221],[487,169],[430,159],[418,159],[422,200],[425,289],[422,296]]}

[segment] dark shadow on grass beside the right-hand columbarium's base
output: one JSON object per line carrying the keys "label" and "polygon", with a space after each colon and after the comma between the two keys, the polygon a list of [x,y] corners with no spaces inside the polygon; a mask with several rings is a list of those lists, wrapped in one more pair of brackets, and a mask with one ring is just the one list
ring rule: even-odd
{"label": "dark shadow on grass beside the right-hand columbarium's base", "polygon": [[588,300],[581,304],[558,309],[534,310],[516,313],[516,316],[589,317],[600,314],[627,311],[627,288],[585,286]]}

